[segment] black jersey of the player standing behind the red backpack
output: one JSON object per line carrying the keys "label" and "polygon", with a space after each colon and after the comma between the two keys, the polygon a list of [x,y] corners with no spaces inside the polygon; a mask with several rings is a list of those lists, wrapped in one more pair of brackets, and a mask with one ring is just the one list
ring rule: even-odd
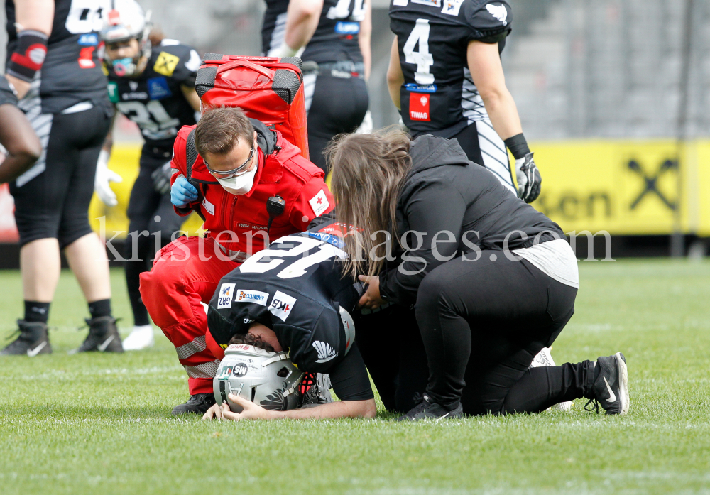
{"label": "black jersey of the player standing behind the red backpack", "polygon": [[[365,18],[366,1],[370,0],[324,0],[318,27],[300,57],[320,63],[362,62],[358,34],[360,22]],[[288,0],[266,0],[261,28],[264,54],[283,43],[287,9]]]}

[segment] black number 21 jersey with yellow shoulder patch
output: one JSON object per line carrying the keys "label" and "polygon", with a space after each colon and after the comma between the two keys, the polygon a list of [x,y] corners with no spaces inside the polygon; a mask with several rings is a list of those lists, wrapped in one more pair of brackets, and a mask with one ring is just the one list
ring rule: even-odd
{"label": "black number 21 jersey with yellow shoulder patch", "polygon": [[154,46],[138,77],[119,77],[109,70],[109,98],[121,114],[141,129],[147,147],[172,151],[182,126],[195,124],[195,110],[181,86],[195,86],[200,55],[175,40]]}

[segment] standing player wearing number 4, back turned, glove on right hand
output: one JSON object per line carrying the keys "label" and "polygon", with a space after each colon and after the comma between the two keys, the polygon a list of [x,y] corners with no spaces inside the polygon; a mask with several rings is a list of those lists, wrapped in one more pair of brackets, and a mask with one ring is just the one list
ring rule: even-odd
{"label": "standing player wearing number 4, back turned, glove on right hand", "polygon": [[507,146],[517,195],[534,201],[542,178],[501,65],[513,21],[508,2],[392,0],[390,19],[387,84],[410,134],[456,138],[469,160],[516,192]]}

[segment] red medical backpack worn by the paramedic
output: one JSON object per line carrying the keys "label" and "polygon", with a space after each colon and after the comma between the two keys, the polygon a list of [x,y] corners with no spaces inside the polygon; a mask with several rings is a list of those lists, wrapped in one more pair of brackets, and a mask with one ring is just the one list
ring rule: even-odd
{"label": "red medical backpack worn by the paramedic", "polygon": [[195,91],[202,111],[239,107],[246,116],[280,131],[308,158],[306,107],[300,58],[242,57],[205,53]]}

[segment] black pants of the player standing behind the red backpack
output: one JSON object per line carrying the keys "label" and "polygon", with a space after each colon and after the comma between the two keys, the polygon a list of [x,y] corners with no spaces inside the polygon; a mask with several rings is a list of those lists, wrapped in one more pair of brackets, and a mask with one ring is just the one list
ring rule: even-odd
{"label": "black pants of the player standing behind the red backpack", "polygon": [[[305,80],[307,82],[307,80]],[[306,88],[308,89],[308,88]],[[318,75],[308,109],[310,161],[328,173],[323,150],[337,134],[355,131],[367,113],[369,97],[364,79]]]}

